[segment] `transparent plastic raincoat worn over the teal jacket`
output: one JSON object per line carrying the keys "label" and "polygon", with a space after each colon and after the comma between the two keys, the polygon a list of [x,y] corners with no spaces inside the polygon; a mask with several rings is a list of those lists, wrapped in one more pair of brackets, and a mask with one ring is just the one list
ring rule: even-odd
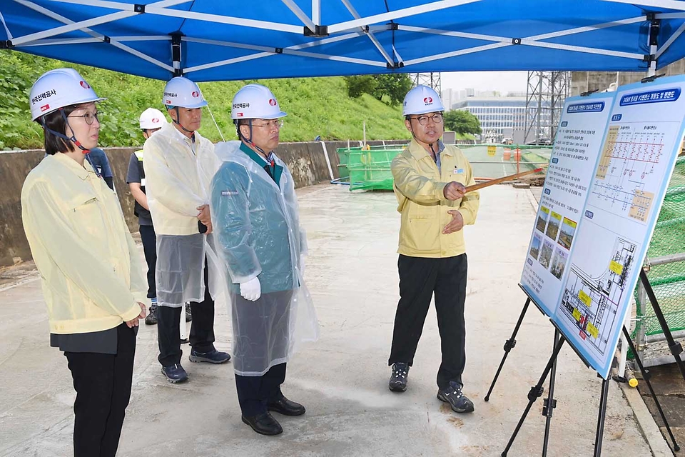
{"label": "transparent plastic raincoat worn over the teal jacket", "polygon": [[[240,144],[215,146],[222,164],[211,181],[213,242],[226,267],[235,373],[262,376],[319,329],[301,274],[306,241],[293,176],[275,157],[276,184]],[[240,283],[255,277],[261,296],[245,300]]]}

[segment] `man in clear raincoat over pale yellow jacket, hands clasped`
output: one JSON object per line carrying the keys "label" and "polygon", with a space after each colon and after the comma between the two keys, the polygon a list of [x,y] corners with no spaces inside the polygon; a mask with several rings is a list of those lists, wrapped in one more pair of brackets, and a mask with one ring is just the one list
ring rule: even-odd
{"label": "man in clear raincoat over pale yellow jacket, hands clasped", "polygon": [[[214,301],[208,286],[205,238],[212,232],[206,185],[217,169],[214,145],[198,134],[200,88],[176,77],[164,88],[165,124],[143,146],[146,192],[157,234],[157,335],[159,363],[169,382],[188,380],[181,366],[181,311],[191,303],[190,360],[224,363],[230,355],[214,348]],[[205,174],[206,173],[206,174]]]}

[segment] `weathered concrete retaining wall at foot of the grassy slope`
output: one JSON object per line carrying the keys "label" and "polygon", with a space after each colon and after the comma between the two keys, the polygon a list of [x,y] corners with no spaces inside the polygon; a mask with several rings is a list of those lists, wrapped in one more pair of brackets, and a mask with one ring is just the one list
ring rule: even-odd
{"label": "weathered concrete retaining wall at foot of the grassy slope", "polygon": [[[386,144],[405,144],[407,141],[386,141]],[[382,141],[369,141],[375,146]],[[351,141],[350,146],[357,146],[358,141]],[[333,177],[338,178],[338,154],[336,149],[347,147],[347,141],[326,141],[326,150],[330,160]],[[114,186],[118,192],[121,209],[126,216],[126,223],[132,232],[138,231],[138,219],[133,216],[133,197],[126,184],[128,160],[138,148],[108,148],[106,153],[114,173]],[[323,143],[283,143],[276,149],[276,154],[288,164],[295,179],[296,187],[311,186],[323,181],[330,181],[328,163],[324,154]],[[10,151],[0,152],[0,268],[20,261],[31,259],[29,243],[24,236],[21,224],[21,186],[26,175],[41,159],[44,151]]]}

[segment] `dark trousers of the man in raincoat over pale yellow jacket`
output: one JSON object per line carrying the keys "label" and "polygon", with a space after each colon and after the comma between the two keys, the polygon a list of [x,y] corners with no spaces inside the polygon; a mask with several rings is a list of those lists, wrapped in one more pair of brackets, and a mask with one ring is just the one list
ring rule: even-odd
{"label": "dark trousers of the man in raincoat over pale yellow jacket", "polygon": [[[214,301],[209,293],[207,262],[205,261],[205,299],[201,302],[191,301],[193,321],[191,334],[188,337],[194,351],[209,352],[214,350]],[[157,307],[157,342],[159,345],[158,361],[162,366],[181,363],[181,314],[183,306]]]}

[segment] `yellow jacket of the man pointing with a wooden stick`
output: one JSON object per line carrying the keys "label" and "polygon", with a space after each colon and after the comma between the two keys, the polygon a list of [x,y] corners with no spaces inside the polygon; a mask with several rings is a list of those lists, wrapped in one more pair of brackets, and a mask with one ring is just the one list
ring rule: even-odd
{"label": "yellow jacket of the man pointing with a wooden stick", "polygon": [[447,211],[457,209],[464,225],[476,221],[480,194],[469,192],[460,200],[447,200],[445,186],[457,181],[475,184],[471,165],[457,146],[445,145],[440,153],[441,167],[415,140],[392,160],[397,211],[402,214],[398,253],[411,257],[453,257],[466,252],[464,231],[443,234],[452,221]]}

